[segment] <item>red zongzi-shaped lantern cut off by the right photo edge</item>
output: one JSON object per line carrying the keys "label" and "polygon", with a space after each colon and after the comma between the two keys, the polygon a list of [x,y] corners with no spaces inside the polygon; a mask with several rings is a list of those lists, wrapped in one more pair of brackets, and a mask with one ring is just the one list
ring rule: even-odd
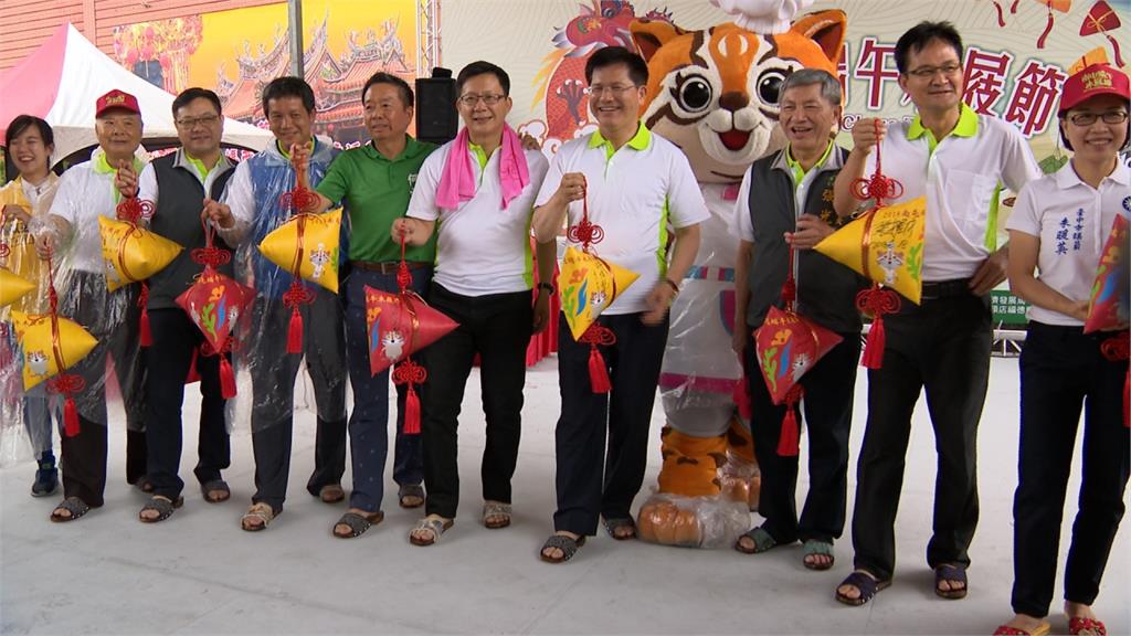
{"label": "red zongzi-shaped lantern cut off by the right photo edge", "polygon": [[1115,216],[1112,233],[1104,243],[1099,255],[1099,267],[1096,269],[1096,282],[1091,284],[1091,303],[1088,308],[1088,320],[1083,324],[1083,333],[1126,328],[1131,320],[1131,276],[1128,258],[1129,243],[1128,217]]}

